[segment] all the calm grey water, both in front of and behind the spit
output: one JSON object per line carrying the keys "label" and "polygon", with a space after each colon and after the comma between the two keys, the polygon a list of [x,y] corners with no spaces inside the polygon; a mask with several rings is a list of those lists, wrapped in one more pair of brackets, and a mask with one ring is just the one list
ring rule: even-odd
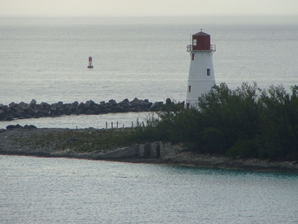
{"label": "all the calm grey water, both in front of and behind the spit", "polygon": [[[186,45],[200,28],[216,45],[217,84],[256,81],[287,91],[298,84],[298,19],[223,21],[0,18],[0,103],[182,101]],[[0,128],[127,127],[148,116],[61,116]],[[298,174],[291,173],[0,156],[0,223],[298,223],[297,198]]]}

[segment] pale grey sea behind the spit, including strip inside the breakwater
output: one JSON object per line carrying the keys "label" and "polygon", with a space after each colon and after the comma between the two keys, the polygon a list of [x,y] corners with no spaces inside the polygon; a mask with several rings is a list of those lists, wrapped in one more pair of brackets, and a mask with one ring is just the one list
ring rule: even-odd
{"label": "pale grey sea behind the spit, including strip inside the breakwater", "polygon": [[[226,21],[226,22],[225,22]],[[190,34],[203,31],[216,45],[216,83],[235,89],[242,82],[260,88],[298,85],[298,17],[285,18],[0,18],[0,103],[95,102],[134,97],[151,102],[183,101]],[[88,57],[93,69],[88,69]],[[97,116],[61,119],[54,126],[105,127],[122,120]],[[41,119],[40,119],[41,120]],[[27,122],[52,127],[52,119]],[[58,121],[58,119],[56,119]],[[66,122],[63,122],[63,121]],[[73,123],[69,125],[69,120]],[[81,122],[81,120],[83,122]],[[91,122],[89,122],[91,121]],[[42,125],[40,124],[42,123]]]}

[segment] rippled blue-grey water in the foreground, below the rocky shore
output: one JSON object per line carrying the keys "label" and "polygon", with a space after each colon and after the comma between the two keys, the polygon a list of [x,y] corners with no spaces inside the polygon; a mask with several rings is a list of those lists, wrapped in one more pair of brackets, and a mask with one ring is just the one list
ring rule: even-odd
{"label": "rippled blue-grey water in the foreground, below the rocky shore", "polygon": [[298,223],[298,174],[0,156],[0,223]]}

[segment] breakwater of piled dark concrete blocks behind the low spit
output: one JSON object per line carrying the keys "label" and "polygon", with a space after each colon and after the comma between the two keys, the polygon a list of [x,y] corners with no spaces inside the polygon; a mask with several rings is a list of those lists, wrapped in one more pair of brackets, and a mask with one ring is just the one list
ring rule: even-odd
{"label": "breakwater of piled dark concrete blocks behind the low spit", "polygon": [[[165,104],[172,103],[170,98],[166,99]],[[55,117],[61,115],[80,115],[80,114],[103,114],[103,113],[125,113],[125,112],[144,112],[160,111],[164,102],[149,102],[148,99],[138,99],[129,101],[127,98],[121,102],[110,99],[108,102],[101,101],[96,103],[93,100],[84,102],[75,101],[73,103],[37,103],[32,99],[30,103],[11,102],[9,105],[0,104],[0,121],[11,121],[15,119]]]}

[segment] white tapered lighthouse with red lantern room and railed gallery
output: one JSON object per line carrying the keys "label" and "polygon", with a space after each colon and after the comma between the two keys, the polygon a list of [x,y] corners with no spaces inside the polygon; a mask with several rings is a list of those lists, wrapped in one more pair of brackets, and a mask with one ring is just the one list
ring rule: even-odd
{"label": "white tapered lighthouse with red lantern room and railed gallery", "polygon": [[197,107],[198,97],[215,85],[212,54],[215,45],[210,44],[210,35],[198,32],[192,35],[192,44],[187,45],[190,66],[187,79],[185,107]]}

